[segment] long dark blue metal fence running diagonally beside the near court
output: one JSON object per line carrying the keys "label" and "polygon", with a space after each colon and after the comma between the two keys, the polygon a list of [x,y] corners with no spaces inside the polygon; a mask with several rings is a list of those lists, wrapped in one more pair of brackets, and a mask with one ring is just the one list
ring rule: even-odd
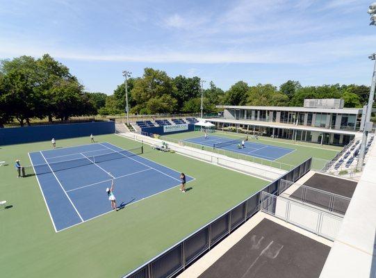
{"label": "long dark blue metal fence running diagonally beside the near court", "polygon": [[202,254],[208,252],[220,240],[227,237],[240,224],[243,224],[260,209],[263,193],[278,194],[279,181],[297,181],[311,168],[311,158],[272,181],[257,193],[254,193],[240,204],[229,209],[208,224],[197,229],[172,247],[168,248],[153,259],[147,261],[124,278],[169,278],[184,270]]}

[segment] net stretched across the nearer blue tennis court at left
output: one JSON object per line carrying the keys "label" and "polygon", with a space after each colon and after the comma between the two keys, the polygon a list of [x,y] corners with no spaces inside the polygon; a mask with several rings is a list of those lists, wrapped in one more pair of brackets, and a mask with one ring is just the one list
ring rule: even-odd
{"label": "net stretched across the nearer blue tennis court at left", "polygon": [[76,167],[82,167],[94,163],[101,163],[104,161],[113,161],[115,159],[126,158],[129,156],[137,156],[143,154],[143,147],[136,147],[133,149],[124,149],[120,152],[110,152],[107,154],[99,154],[97,156],[85,156],[81,154],[83,158],[70,159],[66,161],[58,161],[53,163],[45,163],[38,165],[31,165],[24,167],[24,177],[28,177],[35,174],[47,174],[51,172],[58,172],[62,170],[68,170]]}

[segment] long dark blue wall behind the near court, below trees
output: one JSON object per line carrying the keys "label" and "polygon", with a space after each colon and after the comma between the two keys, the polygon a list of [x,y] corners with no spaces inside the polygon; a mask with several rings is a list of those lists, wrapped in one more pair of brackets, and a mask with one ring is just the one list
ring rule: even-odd
{"label": "long dark blue wall behind the near court, below trees", "polygon": [[79,124],[49,124],[0,129],[0,145],[46,141],[115,133],[115,122],[83,122]]}

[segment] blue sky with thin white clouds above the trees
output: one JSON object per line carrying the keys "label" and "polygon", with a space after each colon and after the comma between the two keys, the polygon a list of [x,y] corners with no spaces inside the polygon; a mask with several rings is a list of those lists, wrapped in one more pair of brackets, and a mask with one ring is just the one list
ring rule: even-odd
{"label": "blue sky with thin white clouds above the trees", "polygon": [[145,67],[237,81],[370,85],[372,0],[0,0],[0,59],[48,53],[90,92]]}

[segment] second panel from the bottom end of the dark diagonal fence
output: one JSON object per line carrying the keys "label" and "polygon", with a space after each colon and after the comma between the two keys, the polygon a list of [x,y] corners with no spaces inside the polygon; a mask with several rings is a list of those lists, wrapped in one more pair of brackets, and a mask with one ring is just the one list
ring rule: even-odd
{"label": "second panel from the bottom end of the dark diagonal fence", "polygon": [[174,275],[183,268],[182,245],[179,244],[151,263],[152,278],[164,278]]}

